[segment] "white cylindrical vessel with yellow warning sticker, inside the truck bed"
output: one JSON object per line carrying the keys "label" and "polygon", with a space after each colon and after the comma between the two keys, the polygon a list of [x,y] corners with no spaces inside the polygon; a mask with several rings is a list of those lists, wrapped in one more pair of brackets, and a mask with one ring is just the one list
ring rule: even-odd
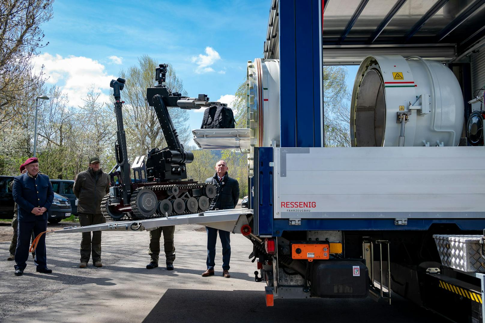
{"label": "white cylindrical vessel with yellow warning sticker, inside the truck bed", "polygon": [[457,146],[463,95],[453,72],[420,57],[373,55],[352,93],[352,147]]}

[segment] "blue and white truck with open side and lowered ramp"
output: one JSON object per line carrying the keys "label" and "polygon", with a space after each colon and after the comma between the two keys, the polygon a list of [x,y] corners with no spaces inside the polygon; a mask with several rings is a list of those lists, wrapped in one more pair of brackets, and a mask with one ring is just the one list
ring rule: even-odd
{"label": "blue and white truck with open side and lowered ramp", "polygon": [[[272,0],[247,128],[193,130],[202,149],[248,154],[249,207],[56,233],[200,223],[252,241],[267,306],[395,293],[485,322],[484,13],[483,0]],[[325,65],[359,65],[351,147],[324,147]]]}

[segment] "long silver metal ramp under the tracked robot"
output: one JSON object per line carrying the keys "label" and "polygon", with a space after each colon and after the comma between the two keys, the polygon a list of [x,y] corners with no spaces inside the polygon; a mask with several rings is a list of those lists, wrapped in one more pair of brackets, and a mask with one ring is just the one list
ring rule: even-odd
{"label": "long silver metal ramp under the tracked robot", "polygon": [[143,231],[153,230],[161,226],[200,224],[211,228],[241,233],[241,227],[248,224],[253,216],[253,210],[247,208],[205,211],[195,214],[184,214],[147,220],[117,221],[86,226],[69,226],[55,233],[74,233],[91,231]]}

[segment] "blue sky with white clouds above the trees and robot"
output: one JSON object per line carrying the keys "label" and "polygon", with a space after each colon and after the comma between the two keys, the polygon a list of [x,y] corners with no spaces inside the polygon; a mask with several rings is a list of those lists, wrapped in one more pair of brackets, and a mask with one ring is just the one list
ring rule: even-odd
{"label": "blue sky with white clouds above the trees and robot", "polygon": [[[107,98],[110,80],[143,54],[171,63],[189,96],[231,101],[245,81],[246,62],[263,56],[271,0],[174,2],[57,0],[42,26],[49,45],[35,64],[45,66],[48,82],[61,86],[74,106],[91,85]],[[192,129],[201,120],[191,111]]]}

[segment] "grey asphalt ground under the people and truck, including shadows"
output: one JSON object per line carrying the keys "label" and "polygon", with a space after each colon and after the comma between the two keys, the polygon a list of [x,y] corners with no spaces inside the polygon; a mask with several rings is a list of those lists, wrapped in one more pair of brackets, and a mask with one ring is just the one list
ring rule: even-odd
{"label": "grey asphalt ground under the people and truck, including shadows", "polygon": [[[59,225],[52,226],[59,228]],[[12,230],[8,224],[0,231]],[[231,235],[231,278],[222,277],[220,242],[216,274],[206,269],[206,233],[198,225],[177,226],[175,270],[145,268],[148,232],[103,232],[104,266],[78,268],[81,234],[49,234],[48,266],[35,272],[29,258],[23,276],[6,261],[0,242],[1,322],[443,322],[439,316],[394,295],[393,305],[366,299],[275,299],[265,306],[263,282],[249,240]],[[163,258],[161,258],[163,259]],[[161,261],[163,266],[164,262]]]}

